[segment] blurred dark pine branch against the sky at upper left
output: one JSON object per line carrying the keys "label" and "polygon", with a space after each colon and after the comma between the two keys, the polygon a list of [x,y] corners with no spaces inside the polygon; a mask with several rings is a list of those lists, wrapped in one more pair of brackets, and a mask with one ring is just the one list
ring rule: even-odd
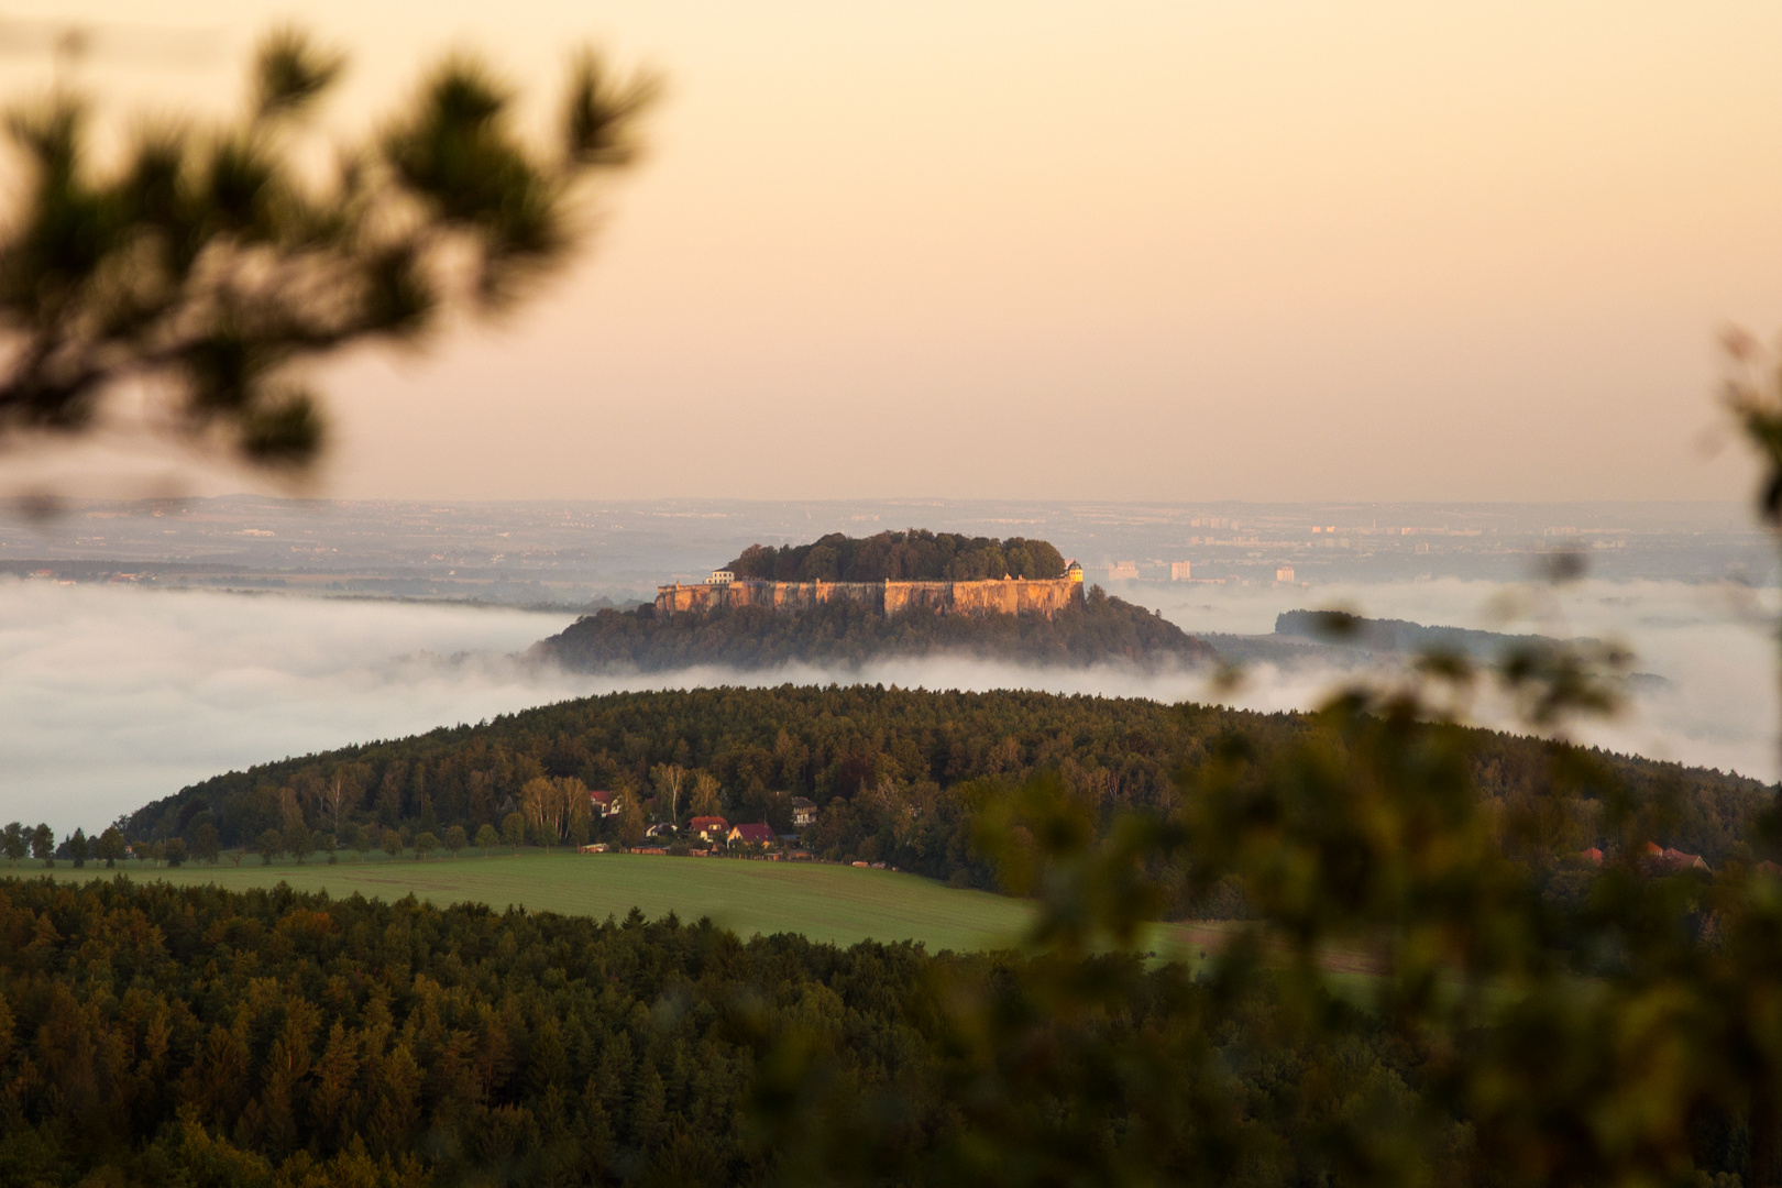
{"label": "blurred dark pine branch against the sky at upper left", "polygon": [[453,59],[312,167],[310,119],[342,68],[276,32],[237,121],[139,125],[109,169],[84,100],[9,116],[25,183],[0,239],[0,435],[91,431],[135,388],[182,440],[301,468],[324,442],[308,367],[524,297],[584,237],[584,183],[633,160],[654,93],[583,55],[535,146],[510,91]]}

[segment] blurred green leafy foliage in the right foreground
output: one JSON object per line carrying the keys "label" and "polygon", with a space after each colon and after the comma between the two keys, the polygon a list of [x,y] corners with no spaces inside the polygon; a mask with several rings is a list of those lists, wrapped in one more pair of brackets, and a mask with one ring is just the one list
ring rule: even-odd
{"label": "blurred green leafy foliage in the right foreground", "polygon": [[[1741,340],[1732,356],[1775,520],[1782,369]],[[1540,641],[1492,675],[1552,730],[1613,711],[1625,661]],[[838,1092],[832,1056],[789,1029],[756,1108],[798,1152],[791,1179],[1782,1183],[1782,867],[1757,860],[1782,842],[1775,789],[1718,871],[1657,848],[1679,801],[1591,752],[1550,745],[1525,794],[1490,798],[1456,725],[1484,679],[1427,655],[1285,746],[1233,732],[1183,768],[1173,809],[1114,828],[1050,780],[982,814],[980,846],[1041,914],[1025,965],[939,996],[960,1129],[909,1142],[907,1108]],[[1196,976],[1142,971],[1164,903],[1233,883],[1251,919]],[[1219,1049],[1231,1037],[1281,1070],[1276,1092]]]}

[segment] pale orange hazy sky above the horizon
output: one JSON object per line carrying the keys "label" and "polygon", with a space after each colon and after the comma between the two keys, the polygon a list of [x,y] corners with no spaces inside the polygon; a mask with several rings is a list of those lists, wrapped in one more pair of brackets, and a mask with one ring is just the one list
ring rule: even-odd
{"label": "pale orange hazy sky above the horizon", "polygon": [[[326,495],[1563,500],[1752,483],[1713,392],[1729,322],[1782,330],[1773,4],[7,16],[91,21],[75,78],[114,112],[223,110],[255,36],[301,16],[353,53],[328,109],[342,135],[454,48],[536,110],[581,43],[665,75],[647,160],[540,301],[324,374]],[[134,32],[107,41],[119,23]],[[46,55],[5,46],[0,91],[41,87]]]}

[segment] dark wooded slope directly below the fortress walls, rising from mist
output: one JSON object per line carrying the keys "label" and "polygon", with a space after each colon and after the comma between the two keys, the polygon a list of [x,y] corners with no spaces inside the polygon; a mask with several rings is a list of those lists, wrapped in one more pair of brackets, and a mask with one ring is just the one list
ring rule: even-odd
{"label": "dark wooded slope directly below the fortress walls, rising from mist", "polygon": [[1082,606],[1044,614],[884,616],[848,600],[802,611],[745,606],[665,614],[599,611],[544,639],[533,655],[579,671],[738,670],[804,663],[859,668],[886,655],[969,655],[1082,668],[1214,664],[1219,654],[1169,620],[1092,588]]}

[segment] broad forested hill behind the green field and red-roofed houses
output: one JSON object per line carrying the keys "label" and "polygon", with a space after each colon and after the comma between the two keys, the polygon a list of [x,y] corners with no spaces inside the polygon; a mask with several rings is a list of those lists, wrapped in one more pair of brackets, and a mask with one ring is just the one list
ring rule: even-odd
{"label": "broad forested hill behind the green field and red-roofed houses", "polygon": [[[791,798],[809,796],[820,814],[804,841],[823,857],[884,860],[993,887],[973,826],[994,789],[1057,773],[1112,821],[1128,809],[1171,807],[1174,773],[1201,764],[1233,732],[1267,755],[1304,728],[1297,714],[1026,691],[615,693],[219,775],[144,807],[130,832],[191,842],[208,825],[225,846],[292,825],[317,837],[451,826],[474,835],[481,825],[499,826],[538,789],[583,789],[584,805],[590,787],[636,789],[650,816],[684,819],[695,812],[693,798],[683,793],[670,807],[659,791],[661,771],[677,768],[681,785],[709,787],[713,807],[729,819],[766,819],[781,832],[791,828]],[[1468,762],[1484,796],[1527,805],[1545,794],[1547,745],[1472,734]],[[1714,866],[1741,851],[1746,825],[1770,803],[1757,780],[1643,759],[1607,762],[1634,796],[1675,796],[1673,825],[1657,842]],[[574,821],[561,818],[551,828],[568,837]],[[620,826],[593,828],[606,837]],[[1600,844],[1600,828],[1607,826],[1586,812],[1568,844]]]}

